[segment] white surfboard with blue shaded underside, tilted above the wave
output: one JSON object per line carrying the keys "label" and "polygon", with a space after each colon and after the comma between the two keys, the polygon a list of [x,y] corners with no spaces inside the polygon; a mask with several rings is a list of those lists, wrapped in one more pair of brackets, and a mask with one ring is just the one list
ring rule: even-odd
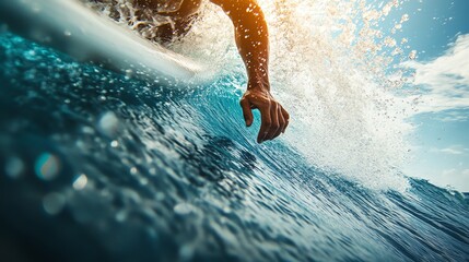
{"label": "white surfboard with blue shaded underside, tilted above the wave", "polygon": [[77,0],[0,0],[0,22],[12,32],[79,59],[144,79],[197,82],[203,69],[142,38]]}

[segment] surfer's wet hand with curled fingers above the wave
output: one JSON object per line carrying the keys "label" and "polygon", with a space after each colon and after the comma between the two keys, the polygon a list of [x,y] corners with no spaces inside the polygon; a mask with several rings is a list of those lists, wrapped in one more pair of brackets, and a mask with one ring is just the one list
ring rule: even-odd
{"label": "surfer's wet hand with curled fingers above the wave", "polygon": [[285,132],[289,126],[290,115],[285,109],[273,99],[270,92],[262,88],[248,88],[241,99],[243,116],[246,121],[246,127],[253,124],[253,109],[259,109],[261,116],[261,124],[257,143],[262,143],[267,140],[273,140],[281,133]]}

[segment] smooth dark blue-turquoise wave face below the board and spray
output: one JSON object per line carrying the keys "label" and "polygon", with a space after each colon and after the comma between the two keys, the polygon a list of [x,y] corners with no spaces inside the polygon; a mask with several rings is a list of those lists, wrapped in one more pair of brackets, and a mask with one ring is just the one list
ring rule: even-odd
{"label": "smooth dark blue-turquoise wave face below the board and spray", "polygon": [[462,194],[257,145],[235,75],[165,88],[9,33],[0,67],[2,261],[469,259]]}

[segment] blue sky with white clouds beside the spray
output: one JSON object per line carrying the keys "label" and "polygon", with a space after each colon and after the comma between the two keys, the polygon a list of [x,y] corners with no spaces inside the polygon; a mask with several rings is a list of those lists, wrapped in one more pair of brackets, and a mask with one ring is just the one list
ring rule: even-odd
{"label": "blue sky with white clouds beside the spray", "polygon": [[390,15],[403,13],[410,20],[394,37],[406,37],[417,59],[399,66],[421,91],[404,174],[469,192],[469,1],[409,0]]}

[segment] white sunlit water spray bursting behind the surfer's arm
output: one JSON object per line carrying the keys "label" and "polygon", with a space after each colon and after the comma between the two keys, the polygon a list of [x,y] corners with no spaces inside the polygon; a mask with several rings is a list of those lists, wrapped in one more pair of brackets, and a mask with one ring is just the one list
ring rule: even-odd
{"label": "white sunlit water spray bursting behind the surfer's arm", "polygon": [[[312,165],[371,188],[407,188],[400,167],[409,157],[404,138],[412,130],[406,122],[410,108],[396,95],[404,73],[390,78],[389,69],[396,59],[415,57],[415,51],[406,56],[400,47],[406,41],[392,37],[409,15],[402,15],[386,37],[379,27],[401,3],[259,1],[269,24],[273,93],[293,119],[284,141]],[[197,59],[216,75],[244,75],[232,28],[219,7],[204,3],[188,35],[168,48]],[[232,80],[235,88],[243,90],[245,83],[245,78]]]}

